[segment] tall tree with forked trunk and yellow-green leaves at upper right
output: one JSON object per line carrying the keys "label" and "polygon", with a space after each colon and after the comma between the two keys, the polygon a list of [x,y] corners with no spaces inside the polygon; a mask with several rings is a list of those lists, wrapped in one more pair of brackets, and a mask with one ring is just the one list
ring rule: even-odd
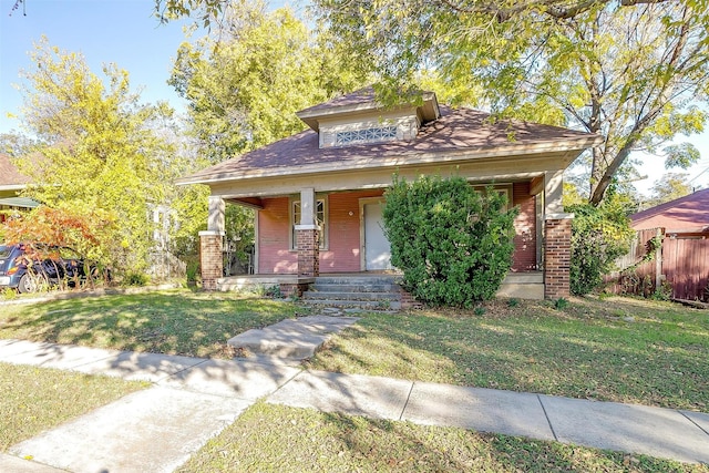
{"label": "tall tree with forked trunk and yellow-green leaves at upper right", "polygon": [[[696,106],[709,83],[702,0],[315,4],[323,28],[363,59],[361,68],[373,66],[386,91],[435,71],[459,102],[603,134],[590,163],[595,205],[633,151],[660,153],[706,121]],[[697,151],[668,147],[666,157],[687,166]]]}

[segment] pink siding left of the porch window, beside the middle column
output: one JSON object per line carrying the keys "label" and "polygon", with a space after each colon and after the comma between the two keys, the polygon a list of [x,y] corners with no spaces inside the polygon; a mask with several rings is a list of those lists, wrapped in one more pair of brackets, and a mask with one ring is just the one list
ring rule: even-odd
{"label": "pink siding left of the porch window, beside the middle column", "polygon": [[297,274],[298,254],[290,251],[288,197],[265,198],[258,212],[258,273]]}

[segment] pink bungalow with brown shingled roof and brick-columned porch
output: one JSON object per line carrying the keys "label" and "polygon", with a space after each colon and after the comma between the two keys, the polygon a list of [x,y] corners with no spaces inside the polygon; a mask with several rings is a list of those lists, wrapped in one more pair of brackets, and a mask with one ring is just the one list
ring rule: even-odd
{"label": "pink bungalow with brown shingled roof and brick-columned porch", "polygon": [[297,290],[321,273],[394,269],[381,204],[398,173],[409,181],[460,175],[505,193],[520,215],[502,294],[568,296],[573,216],[563,213],[562,175],[600,136],[494,122],[483,112],[439,105],[430,92],[418,105],[384,109],[371,88],[297,115],[310,130],[178,181],[212,189],[208,229],[201,233],[205,288],[225,282],[225,202],[257,210],[254,273],[280,276],[281,287],[296,281]]}

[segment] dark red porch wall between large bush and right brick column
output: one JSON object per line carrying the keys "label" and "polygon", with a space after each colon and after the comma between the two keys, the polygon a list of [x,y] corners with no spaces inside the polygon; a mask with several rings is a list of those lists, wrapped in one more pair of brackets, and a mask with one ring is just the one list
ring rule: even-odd
{"label": "dark red porch wall between large bush and right brick column", "polygon": [[530,183],[512,186],[512,204],[520,206],[520,215],[514,220],[513,271],[536,269],[536,208],[535,197],[530,195]]}

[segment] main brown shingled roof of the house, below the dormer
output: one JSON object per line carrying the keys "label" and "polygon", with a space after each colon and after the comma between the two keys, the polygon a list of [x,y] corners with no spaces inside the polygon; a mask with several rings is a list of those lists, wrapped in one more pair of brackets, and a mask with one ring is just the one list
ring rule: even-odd
{"label": "main brown shingled roof of the house, below the dormer", "polygon": [[[349,103],[349,102],[348,102]],[[330,102],[331,104],[331,102]],[[439,120],[424,124],[412,141],[319,147],[312,130],[280,140],[177,181],[208,184],[249,177],[318,172],[319,167],[376,168],[467,157],[512,156],[545,152],[580,151],[602,136],[558,126],[521,121],[492,123],[490,114],[470,109],[440,106]],[[576,157],[574,155],[573,157]],[[572,157],[572,158],[573,158]]]}

